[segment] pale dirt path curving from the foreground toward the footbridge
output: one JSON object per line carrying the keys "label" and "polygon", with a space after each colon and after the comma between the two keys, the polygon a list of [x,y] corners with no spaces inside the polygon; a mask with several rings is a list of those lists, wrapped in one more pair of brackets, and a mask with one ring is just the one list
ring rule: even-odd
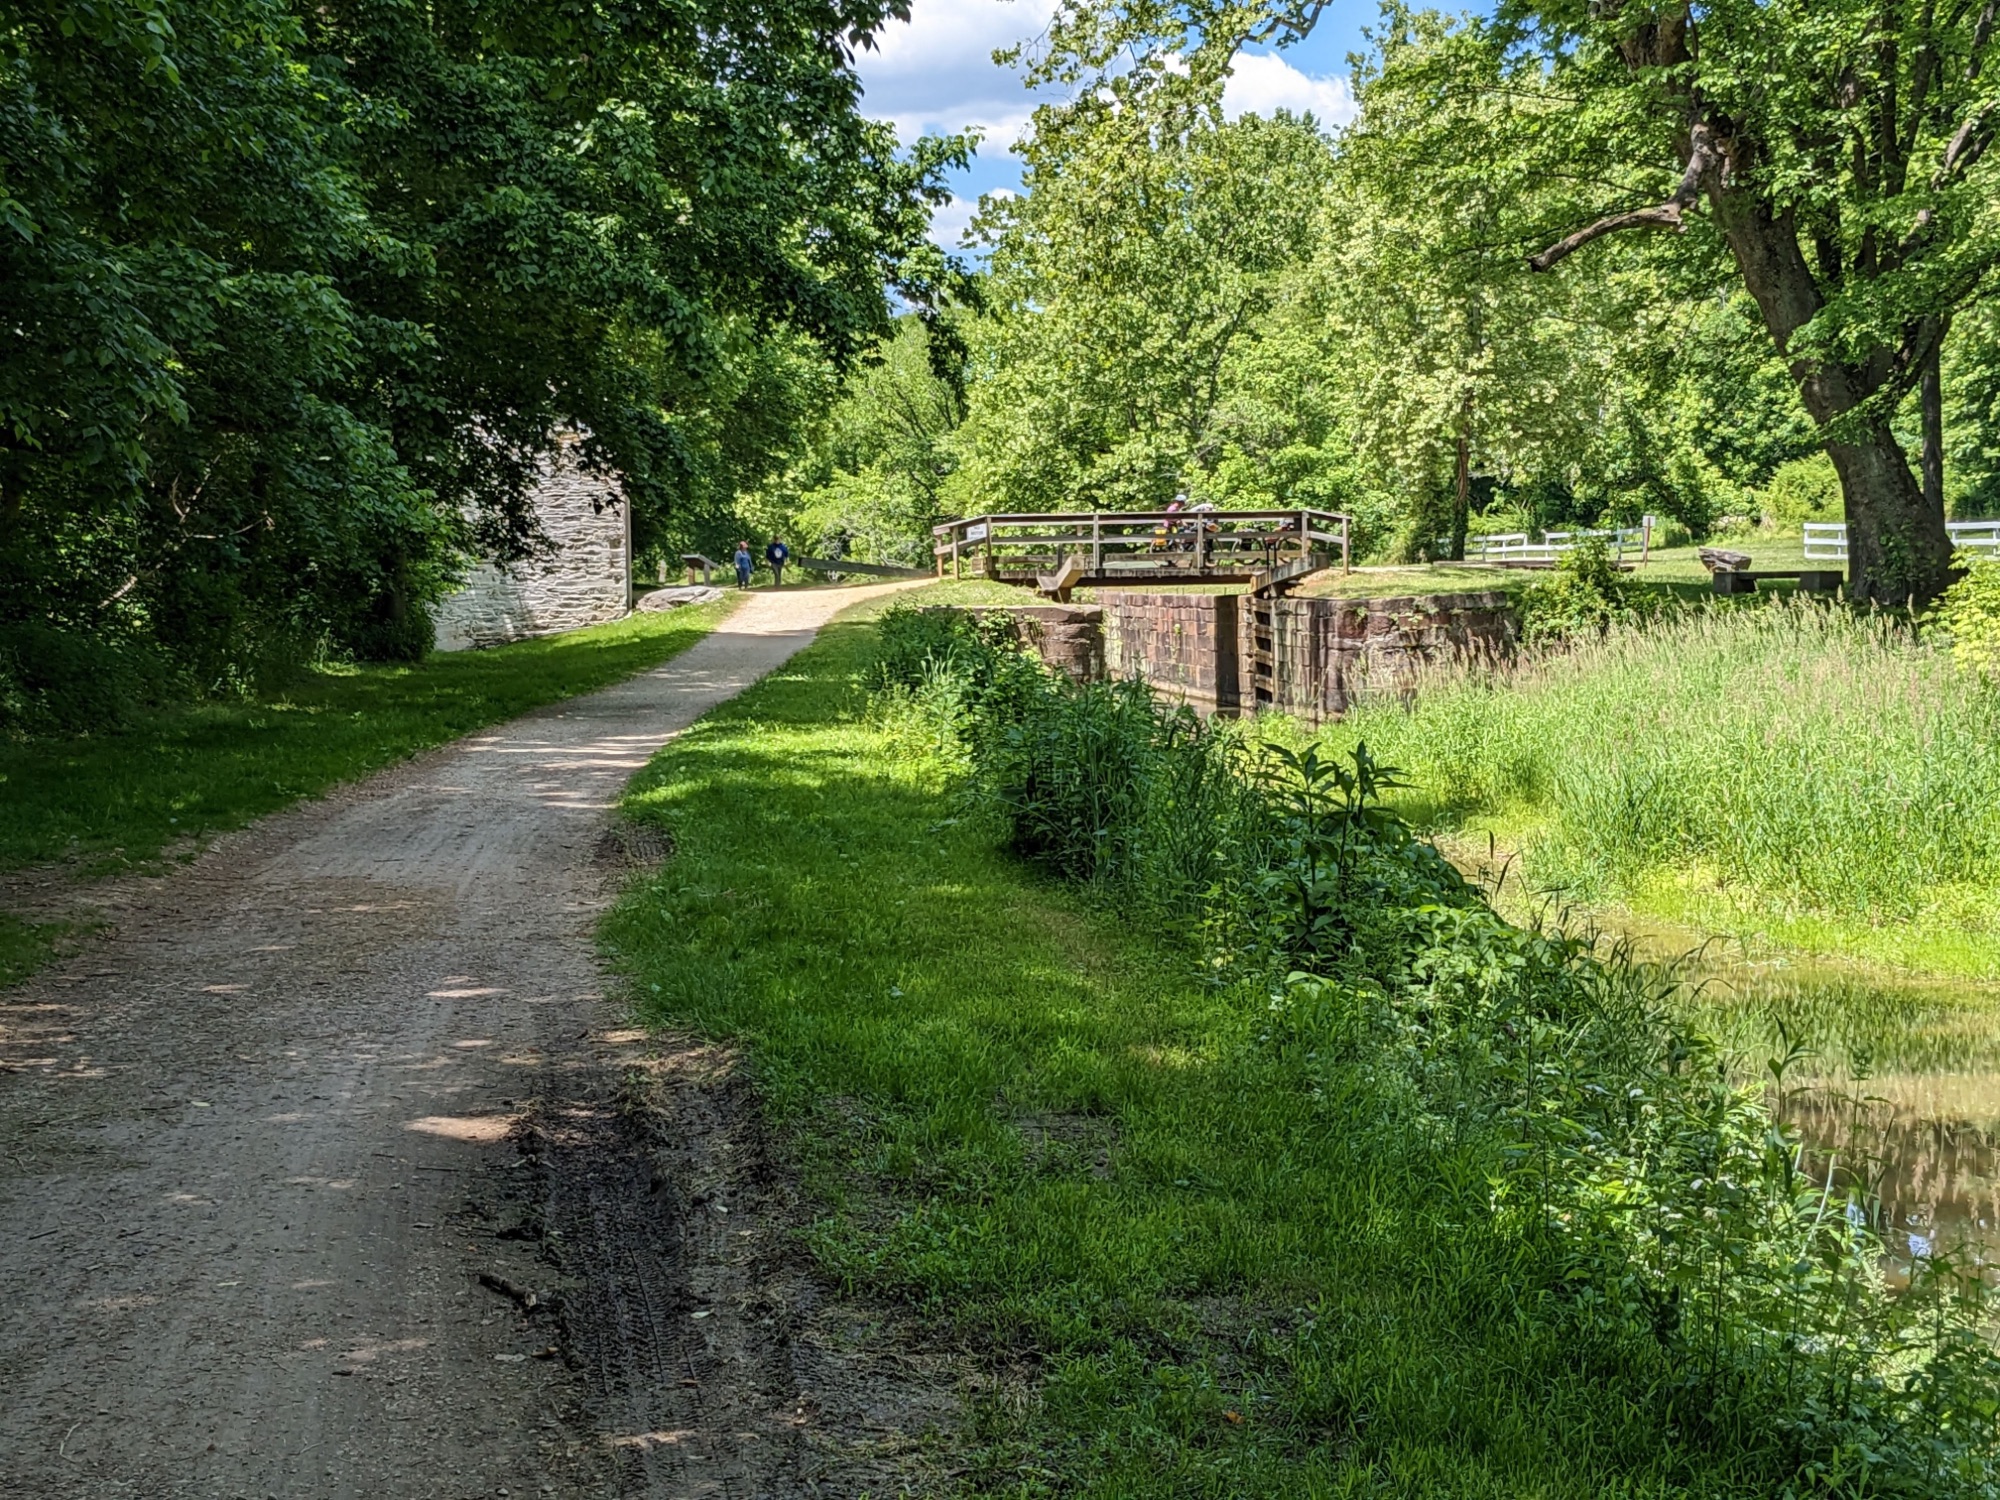
{"label": "pale dirt path curving from the foreground toward the footbridge", "polygon": [[0,996],[0,1494],[768,1492],[796,1382],[754,1298],[692,1322],[756,1232],[618,1126],[592,920],[632,772],[874,592],[270,818]]}

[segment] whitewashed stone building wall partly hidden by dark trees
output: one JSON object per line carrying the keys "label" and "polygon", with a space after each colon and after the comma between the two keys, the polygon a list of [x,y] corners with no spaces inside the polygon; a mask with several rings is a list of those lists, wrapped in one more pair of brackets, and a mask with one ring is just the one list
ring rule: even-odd
{"label": "whitewashed stone building wall partly hidden by dark trees", "polygon": [[618,620],[632,598],[632,534],[616,480],[586,474],[566,440],[544,468],[534,510],[550,556],[480,564],[438,606],[438,650],[500,646]]}

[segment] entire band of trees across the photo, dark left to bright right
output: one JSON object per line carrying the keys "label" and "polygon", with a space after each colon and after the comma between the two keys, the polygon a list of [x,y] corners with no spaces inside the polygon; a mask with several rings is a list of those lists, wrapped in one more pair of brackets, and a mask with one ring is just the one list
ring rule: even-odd
{"label": "entire band of trees across the photo, dark left to bright right", "polygon": [[0,10],[0,722],[422,650],[566,428],[654,556],[1186,490],[1430,556],[1844,516],[1902,602],[2000,508],[1972,0],[1390,0],[1338,132],[1222,110],[1312,4],[1064,0],[976,282],[968,142],[860,112],[892,14]]}

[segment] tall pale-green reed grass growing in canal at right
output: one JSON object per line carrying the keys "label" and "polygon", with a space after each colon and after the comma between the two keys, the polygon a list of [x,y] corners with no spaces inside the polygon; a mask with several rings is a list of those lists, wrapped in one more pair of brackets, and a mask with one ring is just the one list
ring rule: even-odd
{"label": "tall pale-green reed grass growing in canal at right", "polygon": [[1984,926],[2000,892],[2000,686],[1886,618],[1620,624],[1434,670],[1324,738],[1402,766],[1430,826],[1528,824],[1536,874],[1580,896],[1676,876],[1784,916]]}

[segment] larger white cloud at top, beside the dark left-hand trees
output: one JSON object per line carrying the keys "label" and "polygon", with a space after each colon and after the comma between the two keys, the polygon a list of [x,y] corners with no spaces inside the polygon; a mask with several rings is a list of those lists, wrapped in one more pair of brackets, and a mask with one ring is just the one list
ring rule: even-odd
{"label": "larger white cloud at top, beside the dark left-hand trees", "polygon": [[1054,0],[916,0],[910,20],[890,22],[876,50],[856,58],[862,108],[892,120],[904,140],[926,130],[982,126],[982,154],[1004,152],[1022,134],[1032,98],[996,48],[1040,36]]}

